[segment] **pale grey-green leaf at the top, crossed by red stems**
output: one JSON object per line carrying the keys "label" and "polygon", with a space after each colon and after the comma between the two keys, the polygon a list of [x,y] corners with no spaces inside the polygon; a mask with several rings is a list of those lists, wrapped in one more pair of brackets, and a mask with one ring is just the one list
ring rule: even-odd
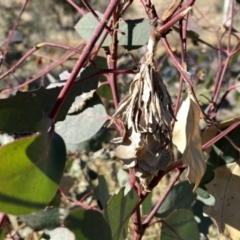
{"label": "pale grey-green leaf at the top, crossed by red stems", "polygon": [[[97,14],[99,17],[102,16],[99,12],[97,12]],[[91,38],[97,24],[98,21],[92,13],[87,13],[76,24],[75,29],[84,40],[88,41]],[[146,44],[149,39],[150,25],[148,19],[121,20],[119,22],[119,29],[118,44],[127,50],[139,48]],[[103,33],[101,37],[102,36]],[[97,44],[99,43],[100,41],[97,42]],[[108,47],[110,44],[111,38],[110,36],[107,36],[102,44],[102,47]]]}

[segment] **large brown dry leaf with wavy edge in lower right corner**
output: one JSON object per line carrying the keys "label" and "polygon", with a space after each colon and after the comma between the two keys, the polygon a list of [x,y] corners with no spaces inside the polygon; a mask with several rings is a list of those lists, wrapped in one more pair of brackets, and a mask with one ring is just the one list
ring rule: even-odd
{"label": "large brown dry leaf with wavy edge in lower right corner", "polygon": [[214,179],[206,185],[207,191],[216,199],[213,207],[205,207],[204,212],[213,218],[220,233],[220,240],[240,239],[239,161],[214,170]]}

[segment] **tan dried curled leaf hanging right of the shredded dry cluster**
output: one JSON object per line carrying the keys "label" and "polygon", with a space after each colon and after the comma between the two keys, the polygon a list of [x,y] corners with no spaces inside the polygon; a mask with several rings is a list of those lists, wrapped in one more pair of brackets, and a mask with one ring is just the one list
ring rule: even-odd
{"label": "tan dried curled leaf hanging right of the shredded dry cluster", "polygon": [[177,114],[177,122],[173,129],[172,141],[183,154],[183,162],[188,165],[188,179],[195,183],[195,191],[206,170],[202,153],[199,130],[200,110],[189,92],[182,101]]}

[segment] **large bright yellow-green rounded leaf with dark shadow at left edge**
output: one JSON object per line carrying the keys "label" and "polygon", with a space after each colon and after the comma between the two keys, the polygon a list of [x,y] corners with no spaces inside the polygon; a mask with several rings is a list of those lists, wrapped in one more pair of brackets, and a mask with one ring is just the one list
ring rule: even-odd
{"label": "large bright yellow-green rounded leaf with dark shadow at left edge", "polygon": [[41,210],[58,189],[66,162],[62,138],[42,132],[0,149],[0,211],[23,215]]}

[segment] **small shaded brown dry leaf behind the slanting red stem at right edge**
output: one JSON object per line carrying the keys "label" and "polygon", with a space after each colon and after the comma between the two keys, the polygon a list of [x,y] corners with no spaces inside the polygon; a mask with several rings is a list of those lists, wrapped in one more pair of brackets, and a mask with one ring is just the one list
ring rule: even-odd
{"label": "small shaded brown dry leaf behind the slanting red stem at right edge", "polygon": [[[224,130],[225,128],[231,126],[233,123],[238,122],[240,120],[240,117],[237,118],[231,118],[226,121],[220,122],[218,124],[213,124],[210,127],[206,128],[204,132],[202,133],[202,144],[204,145],[211,139],[213,139],[215,136],[218,135],[219,130]],[[211,151],[212,147],[206,148],[204,151],[209,153]]]}

